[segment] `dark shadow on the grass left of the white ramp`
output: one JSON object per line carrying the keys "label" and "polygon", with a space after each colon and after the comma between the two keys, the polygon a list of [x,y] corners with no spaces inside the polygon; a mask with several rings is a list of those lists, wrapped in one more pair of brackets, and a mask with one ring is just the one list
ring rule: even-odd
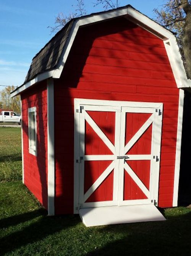
{"label": "dark shadow on the grass left of the white ramp", "polygon": [[[37,218],[37,220],[35,220],[35,218]],[[26,225],[24,225],[24,222],[26,222]],[[76,215],[65,215],[63,217],[47,216],[45,209],[2,219],[0,228],[7,228],[21,223],[23,223],[23,226],[21,230],[19,228],[19,231],[0,239],[0,255],[10,253],[21,246],[42,240],[63,229],[75,226],[79,222],[79,216]]]}

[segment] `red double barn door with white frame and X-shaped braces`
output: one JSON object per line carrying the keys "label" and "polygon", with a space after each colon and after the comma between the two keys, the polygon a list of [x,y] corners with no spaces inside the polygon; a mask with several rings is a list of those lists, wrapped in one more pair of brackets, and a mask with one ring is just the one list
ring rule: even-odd
{"label": "red double barn door with white frame and X-shaped braces", "polygon": [[74,212],[157,205],[162,104],[75,99]]}

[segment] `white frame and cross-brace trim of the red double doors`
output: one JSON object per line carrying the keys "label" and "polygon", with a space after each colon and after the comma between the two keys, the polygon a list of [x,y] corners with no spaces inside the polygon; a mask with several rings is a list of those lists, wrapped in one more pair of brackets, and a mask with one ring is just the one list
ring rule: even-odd
{"label": "white frame and cross-brace trim of the red double doors", "polygon": [[[155,120],[156,125],[155,125],[155,128],[153,128],[152,130],[155,130],[155,132],[157,132],[157,135],[160,136],[160,138],[157,138],[157,141],[159,142],[159,147],[160,147],[160,140],[161,140],[161,130],[160,129],[161,129],[161,123],[162,123],[161,120],[162,120],[162,107],[163,107],[162,103],[74,99],[74,213],[78,213],[79,208],[83,207],[83,202],[86,201],[86,200],[79,201],[79,198],[84,199],[84,191],[82,191],[82,190],[80,191],[80,189],[79,189],[79,184],[84,184],[84,172],[83,172],[84,160],[98,160],[97,157],[99,157],[99,160],[106,160],[106,159],[114,160],[115,159],[115,166],[117,166],[117,165],[119,166],[120,163],[123,162],[123,161],[119,161],[119,159],[116,159],[116,155],[124,155],[124,152],[117,153],[115,151],[116,151],[116,147],[117,147],[118,151],[121,150],[120,143],[122,143],[123,145],[125,144],[125,141],[124,141],[124,143],[122,141],[120,141],[120,139],[122,139],[122,138],[124,140],[124,136],[120,135],[120,132],[121,132],[121,131],[119,131],[120,129],[118,131],[115,131],[115,138],[117,138],[117,137],[119,138],[119,139],[117,139],[117,141],[119,143],[118,143],[118,145],[114,146],[108,140],[108,138],[105,136],[105,134],[100,130],[100,128],[95,124],[95,122],[92,120],[92,118],[87,114],[87,112],[84,111],[84,110],[90,110],[90,109],[97,110],[97,107],[95,108],[94,106],[99,106],[99,111],[108,111],[109,110],[109,111],[116,112],[116,118],[118,118],[118,121],[116,120],[117,122],[120,122],[120,120],[121,120],[121,122],[125,122],[125,115],[126,115],[125,111],[128,110],[129,112],[131,112],[130,109],[128,109],[128,108],[125,111],[120,112],[121,107],[133,107],[134,109],[132,109],[132,112],[139,112],[138,108],[141,108],[141,113],[151,113],[152,115],[148,119],[149,122],[147,121],[146,125],[143,125],[143,127],[141,127],[141,129],[140,129],[141,132],[139,130],[138,133],[140,133],[140,134],[137,134],[139,136],[136,136],[136,137],[139,138],[141,136],[141,134],[144,133],[144,131],[149,127],[149,125],[151,125],[152,122]],[[113,107],[112,110],[110,110],[110,106]],[[119,112],[119,115],[117,114],[118,112]],[[98,134],[98,136],[102,140],[104,140],[105,144],[108,145],[108,148],[113,152],[113,154],[115,154],[115,156],[113,156],[113,155],[107,155],[107,156],[106,155],[103,155],[103,156],[95,156],[95,155],[86,156],[85,155],[84,156],[85,124],[84,124],[84,122],[80,122],[81,118],[83,120],[86,119],[86,121],[92,126],[92,128],[94,128],[94,130],[96,130],[95,132]],[[159,125],[159,121],[160,121],[160,125]],[[159,130],[160,130],[160,132],[159,132]],[[155,135],[155,136],[157,136],[157,135]],[[107,138],[107,139],[105,139],[105,138]],[[137,141],[138,138],[136,138],[135,142]],[[153,141],[153,133],[152,133],[152,141]],[[124,151],[124,147],[121,147],[121,148]],[[128,146],[128,148],[129,148],[129,146]],[[156,150],[159,150],[158,154],[157,154],[157,157],[159,159],[160,158],[160,154],[159,154],[160,149],[155,147],[155,149],[152,148],[151,155],[136,155],[136,156],[129,155],[129,157],[130,157],[129,160],[145,159],[146,158],[148,160],[151,160],[151,162],[155,162],[155,161],[153,161],[152,156],[153,156],[153,153],[156,152]],[[84,159],[79,164],[80,156],[82,156],[82,155],[83,155]],[[160,160],[157,161],[156,163],[157,163],[156,168],[159,171]],[[121,164],[120,168],[124,169],[124,167],[125,167],[125,170],[126,171],[128,170],[128,172],[129,172],[130,167],[128,166],[128,163],[127,164],[125,163],[125,166],[124,166],[124,164],[123,165]],[[107,167],[106,172],[104,171],[104,173],[102,173],[102,175],[98,178],[98,180],[96,180],[95,183],[91,186],[91,188],[89,188],[89,190],[85,193],[85,199],[87,199],[90,196],[90,194],[92,193],[92,190],[94,191],[100,185],[100,183],[103,181],[103,177],[107,177],[109,175],[109,173],[113,170],[113,168],[115,168],[115,167],[113,166],[113,162],[112,162]],[[119,173],[116,173],[115,175],[119,175]],[[155,178],[158,178],[158,177],[159,177],[159,175],[157,175]],[[152,179],[152,182],[155,181],[154,180],[155,178],[151,177],[150,182],[151,182],[151,179]],[[120,183],[122,182],[122,180],[123,180],[123,177],[118,177],[119,184],[115,184],[115,182],[114,182],[113,187],[117,186],[120,190],[121,189]],[[148,196],[148,194],[150,194],[149,190],[151,190],[151,187],[149,188],[149,190],[147,190],[147,188],[142,183],[142,181],[139,182],[139,178],[137,179],[137,177],[136,177],[136,181],[139,183],[139,185],[141,186],[144,193]],[[159,182],[159,179],[158,179],[158,182]],[[157,181],[155,181],[155,183],[157,183]],[[158,186],[159,186],[159,184],[157,186],[152,187],[153,191],[156,191],[156,189],[154,189],[154,188],[157,188],[157,193],[158,193]],[[153,194],[157,194],[157,193],[153,193]],[[116,204],[118,204],[118,201],[122,201],[122,200],[120,200],[120,198],[118,198],[118,194],[120,194],[120,193],[118,193],[118,191],[116,191],[116,189],[115,190],[113,189],[112,205],[116,205]],[[139,203],[151,203],[151,198],[152,198],[152,195],[150,194],[149,199],[131,200],[131,204],[138,204],[138,201],[139,201]],[[158,199],[158,194],[157,194],[157,199]],[[81,205],[79,205],[79,204],[81,204]],[[96,207],[96,206],[107,206],[107,205],[111,205],[111,201],[85,203],[84,206]]]}

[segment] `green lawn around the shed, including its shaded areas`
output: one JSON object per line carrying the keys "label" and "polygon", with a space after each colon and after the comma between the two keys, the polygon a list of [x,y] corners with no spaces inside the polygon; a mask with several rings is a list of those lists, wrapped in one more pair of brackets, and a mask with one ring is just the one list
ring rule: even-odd
{"label": "green lawn around the shed, including its shaded areas", "polygon": [[[0,135],[15,140],[6,138],[12,147],[4,143],[0,157],[16,155],[12,165],[19,163],[21,169],[20,130],[5,129]],[[78,215],[47,216],[21,181],[1,182],[0,255],[190,255],[191,209],[165,209],[163,214],[167,221],[86,228]]]}

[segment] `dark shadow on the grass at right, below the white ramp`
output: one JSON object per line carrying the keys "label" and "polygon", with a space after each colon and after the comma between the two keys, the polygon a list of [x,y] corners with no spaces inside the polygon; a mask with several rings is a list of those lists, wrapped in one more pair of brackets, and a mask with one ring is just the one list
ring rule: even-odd
{"label": "dark shadow on the grass at right, below the white ramp", "polygon": [[190,230],[191,212],[161,222],[111,225],[99,231],[124,233],[123,238],[87,255],[190,255]]}

